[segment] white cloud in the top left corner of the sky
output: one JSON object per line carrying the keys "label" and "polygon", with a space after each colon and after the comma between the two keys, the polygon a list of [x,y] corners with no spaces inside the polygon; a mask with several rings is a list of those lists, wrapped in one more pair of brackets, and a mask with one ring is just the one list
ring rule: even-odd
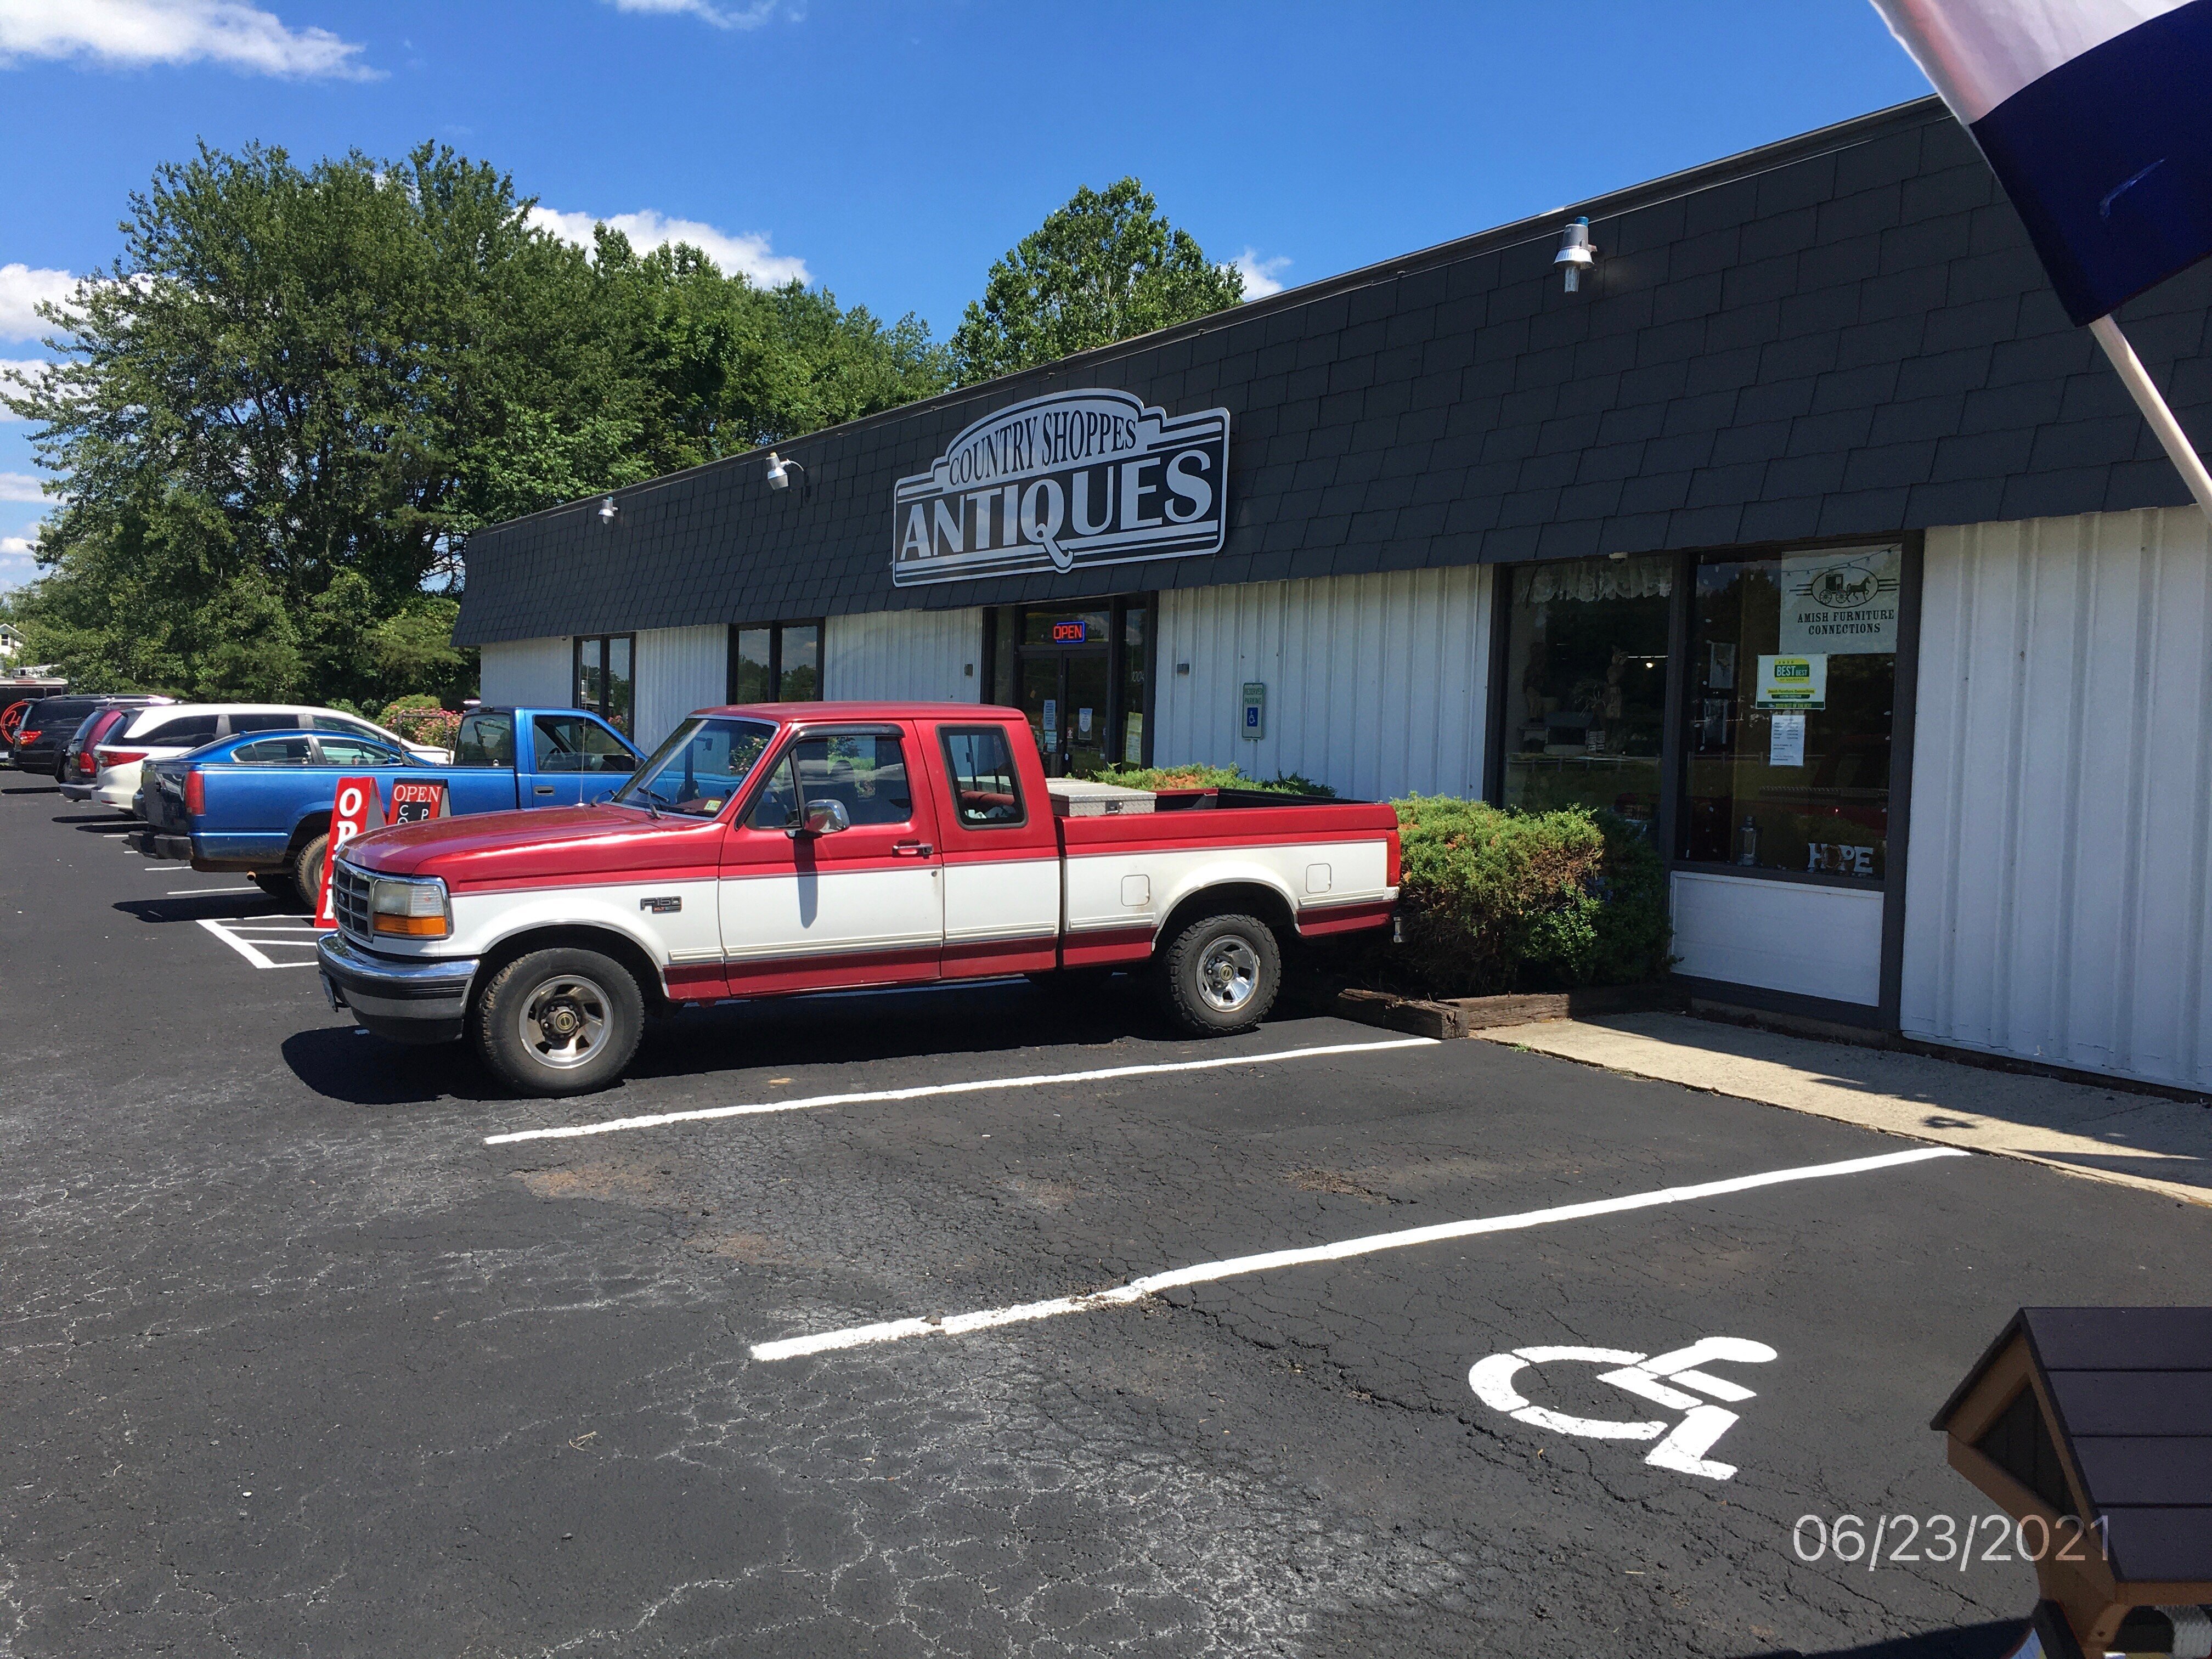
{"label": "white cloud in the top left corner of the sky", "polygon": [[327,29],[285,29],[241,0],[0,0],[0,64],[75,58],[139,69],[212,62],[250,75],[369,80],[361,46]]}

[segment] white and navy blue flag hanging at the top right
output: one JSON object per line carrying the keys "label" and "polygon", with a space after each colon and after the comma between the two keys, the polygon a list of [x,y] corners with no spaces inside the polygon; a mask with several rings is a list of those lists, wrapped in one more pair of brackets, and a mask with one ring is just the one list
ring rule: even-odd
{"label": "white and navy blue flag hanging at the top right", "polygon": [[2075,323],[2212,254],[2212,0],[1874,0]]}

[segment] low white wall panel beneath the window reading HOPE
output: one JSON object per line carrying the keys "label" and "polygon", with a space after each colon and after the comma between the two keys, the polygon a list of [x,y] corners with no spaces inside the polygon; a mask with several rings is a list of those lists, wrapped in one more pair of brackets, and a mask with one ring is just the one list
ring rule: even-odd
{"label": "low white wall panel beneath the window reading HOPE", "polygon": [[1882,1000],[1882,896],[1677,869],[1674,971],[1832,1002]]}

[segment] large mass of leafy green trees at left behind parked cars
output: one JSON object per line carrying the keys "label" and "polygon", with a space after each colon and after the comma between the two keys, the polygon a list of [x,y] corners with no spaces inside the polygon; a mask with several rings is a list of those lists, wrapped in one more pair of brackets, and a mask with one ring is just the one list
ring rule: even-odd
{"label": "large mass of leafy green trees at left behind parked cars", "polygon": [[575,248],[529,206],[431,144],[159,168],[46,310],[64,365],[0,392],[62,491],[15,599],[33,653],[117,688],[456,695],[478,526],[949,385],[911,316]]}

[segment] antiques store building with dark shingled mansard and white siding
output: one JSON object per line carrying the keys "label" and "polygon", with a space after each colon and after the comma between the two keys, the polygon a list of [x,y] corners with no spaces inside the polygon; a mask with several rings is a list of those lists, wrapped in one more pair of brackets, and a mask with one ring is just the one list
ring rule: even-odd
{"label": "antiques store building with dark shingled mansard and white siding", "polygon": [[[2197,431],[2208,314],[2121,319]],[[1697,991],[2212,1086],[2212,540],[1936,100],[781,456],[476,535],[487,701],[1601,805]]]}

